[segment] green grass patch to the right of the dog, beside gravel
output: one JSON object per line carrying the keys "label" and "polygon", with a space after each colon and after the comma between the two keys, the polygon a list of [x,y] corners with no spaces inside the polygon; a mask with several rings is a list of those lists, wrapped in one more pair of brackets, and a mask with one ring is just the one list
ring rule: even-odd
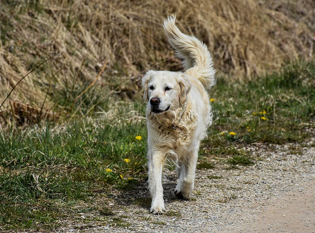
{"label": "green grass patch to the right of the dog, beside gravel", "polygon": [[214,124],[204,142],[205,153],[237,155],[234,145],[284,144],[310,137],[305,123],[313,122],[314,127],[314,77],[313,63],[299,63],[246,83],[219,78],[211,94]]}

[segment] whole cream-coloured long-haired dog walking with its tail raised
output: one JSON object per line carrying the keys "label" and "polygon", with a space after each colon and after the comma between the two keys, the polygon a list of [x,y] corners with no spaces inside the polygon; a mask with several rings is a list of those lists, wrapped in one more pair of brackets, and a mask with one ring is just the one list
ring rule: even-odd
{"label": "whole cream-coloured long-haired dog walking with its tail raised", "polygon": [[177,164],[178,183],[174,194],[189,199],[195,178],[200,141],[212,124],[208,89],[215,85],[210,52],[194,36],[175,26],[176,16],[164,20],[170,45],[182,59],[183,71],[148,71],[142,78],[147,103],[148,182],[153,214],[163,214],[162,175],[167,160]]}

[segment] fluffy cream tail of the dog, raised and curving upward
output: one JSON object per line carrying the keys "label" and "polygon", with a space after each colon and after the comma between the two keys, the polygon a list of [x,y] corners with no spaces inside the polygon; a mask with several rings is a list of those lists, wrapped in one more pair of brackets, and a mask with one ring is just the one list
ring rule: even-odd
{"label": "fluffy cream tail of the dog, raised and curving upward", "polygon": [[176,50],[185,73],[198,78],[205,88],[216,84],[215,69],[212,57],[206,45],[194,36],[182,33],[175,26],[176,16],[169,16],[164,20],[164,30],[171,46]]}

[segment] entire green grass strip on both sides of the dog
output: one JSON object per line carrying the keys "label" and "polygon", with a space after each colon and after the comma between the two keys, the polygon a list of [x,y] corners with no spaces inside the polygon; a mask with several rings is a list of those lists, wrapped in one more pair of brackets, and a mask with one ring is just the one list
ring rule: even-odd
{"label": "entire green grass strip on both sides of the dog", "polygon": [[[211,90],[214,123],[202,143],[198,168],[217,169],[209,158],[230,168],[252,165],[255,158],[243,146],[311,137],[305,129],[315,127],[314,77],[314,64],[296,64],[245,83],[219,78]],[[106,201],[111,193],[146,180],[142,100],[113,104],[103,95],[94,89],[82,96],[83,104],[69,99],[64,105],[80,110],[70,109],[74,117],[63,125],[0,128],[1,231],[49,230],[76,212],[115,215]],[[112,115],[97,113],[104,106]],[[148,205],[149,197],[142,203]]]}

